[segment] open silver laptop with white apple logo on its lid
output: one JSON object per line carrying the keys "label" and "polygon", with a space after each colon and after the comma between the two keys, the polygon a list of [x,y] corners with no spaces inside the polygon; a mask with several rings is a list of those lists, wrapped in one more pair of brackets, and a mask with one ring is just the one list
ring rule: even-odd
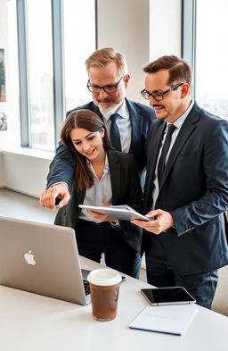
{"label": "open silver laptop with white apple logo on its lid", "polygon": [[0,284],[86,305],[87,274],[73,229],[0,217]]}

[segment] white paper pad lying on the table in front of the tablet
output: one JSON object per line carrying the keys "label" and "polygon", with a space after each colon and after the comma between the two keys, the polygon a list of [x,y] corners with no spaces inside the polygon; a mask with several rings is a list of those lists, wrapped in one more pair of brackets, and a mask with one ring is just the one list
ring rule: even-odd
{"label": "white paper pad lying on the table in front of the tablet", "polygon": [[194,304],[146,306],[129,328],[181,336],[197,309],[198,306]]}

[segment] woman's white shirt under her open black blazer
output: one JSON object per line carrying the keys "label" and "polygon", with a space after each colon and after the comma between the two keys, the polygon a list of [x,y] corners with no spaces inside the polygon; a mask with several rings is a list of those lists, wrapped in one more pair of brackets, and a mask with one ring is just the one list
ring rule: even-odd
{"label": "woman's white shirt under her open black blazer", "polygon": [[[99,180],[94,171],[94,167],[92,163],[87,160],[87,164],[89,170],[94,174],[94,185],[91,188],[86,189],[85,191],[85,199],[83,205],[94,205],[99,206],[103,203],[111,203],[112,199],[112,191],[111,191],[111,183],[110,183],[110,166],[108,161],[108,156],[106,154],[105,165],[103,169],[103,175],[101,180]],[[96,220],[93,216],[88,213],[85,213],[84,210],[81,211],[79,218],[85,221],[95,221],[96,223],[100,223],[101,221]]]}

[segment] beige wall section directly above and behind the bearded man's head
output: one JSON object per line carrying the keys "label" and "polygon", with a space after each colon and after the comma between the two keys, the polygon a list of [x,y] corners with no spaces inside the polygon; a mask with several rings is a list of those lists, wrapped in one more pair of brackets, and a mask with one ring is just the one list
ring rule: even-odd
{"label": "beige wall section directly above and behind the bearded man's head", "polygon": [[142,67],[150,61],[150,0],[98,0],[98,47],[126,54],[131,75],[127,97],[143,102]]}

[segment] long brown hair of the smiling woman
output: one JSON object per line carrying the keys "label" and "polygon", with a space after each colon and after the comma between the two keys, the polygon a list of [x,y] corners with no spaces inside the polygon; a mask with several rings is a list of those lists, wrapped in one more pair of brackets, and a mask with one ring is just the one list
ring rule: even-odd
{"label": "long brown hair of the smiling woman", "polygon": [[76,112],[70,113],[67,119],[64,121],[61,127],[61,142],[65,146],[69,147],[73,154],[76,155],[77,166],[75,171],[75,187],[83,190],[86,188],[91,188],[94,185],[94,175],[87,166],[86,157],[77,152],[71,138],[69,137],[70,131],[74,130],[75,128],[82,128],[92,132],[102,131],[103,129],[104,150],[107,151],[109,148],[112,148],[112,146],[105,130],[104,123],[93,111],[85,109],[77,110]]}

